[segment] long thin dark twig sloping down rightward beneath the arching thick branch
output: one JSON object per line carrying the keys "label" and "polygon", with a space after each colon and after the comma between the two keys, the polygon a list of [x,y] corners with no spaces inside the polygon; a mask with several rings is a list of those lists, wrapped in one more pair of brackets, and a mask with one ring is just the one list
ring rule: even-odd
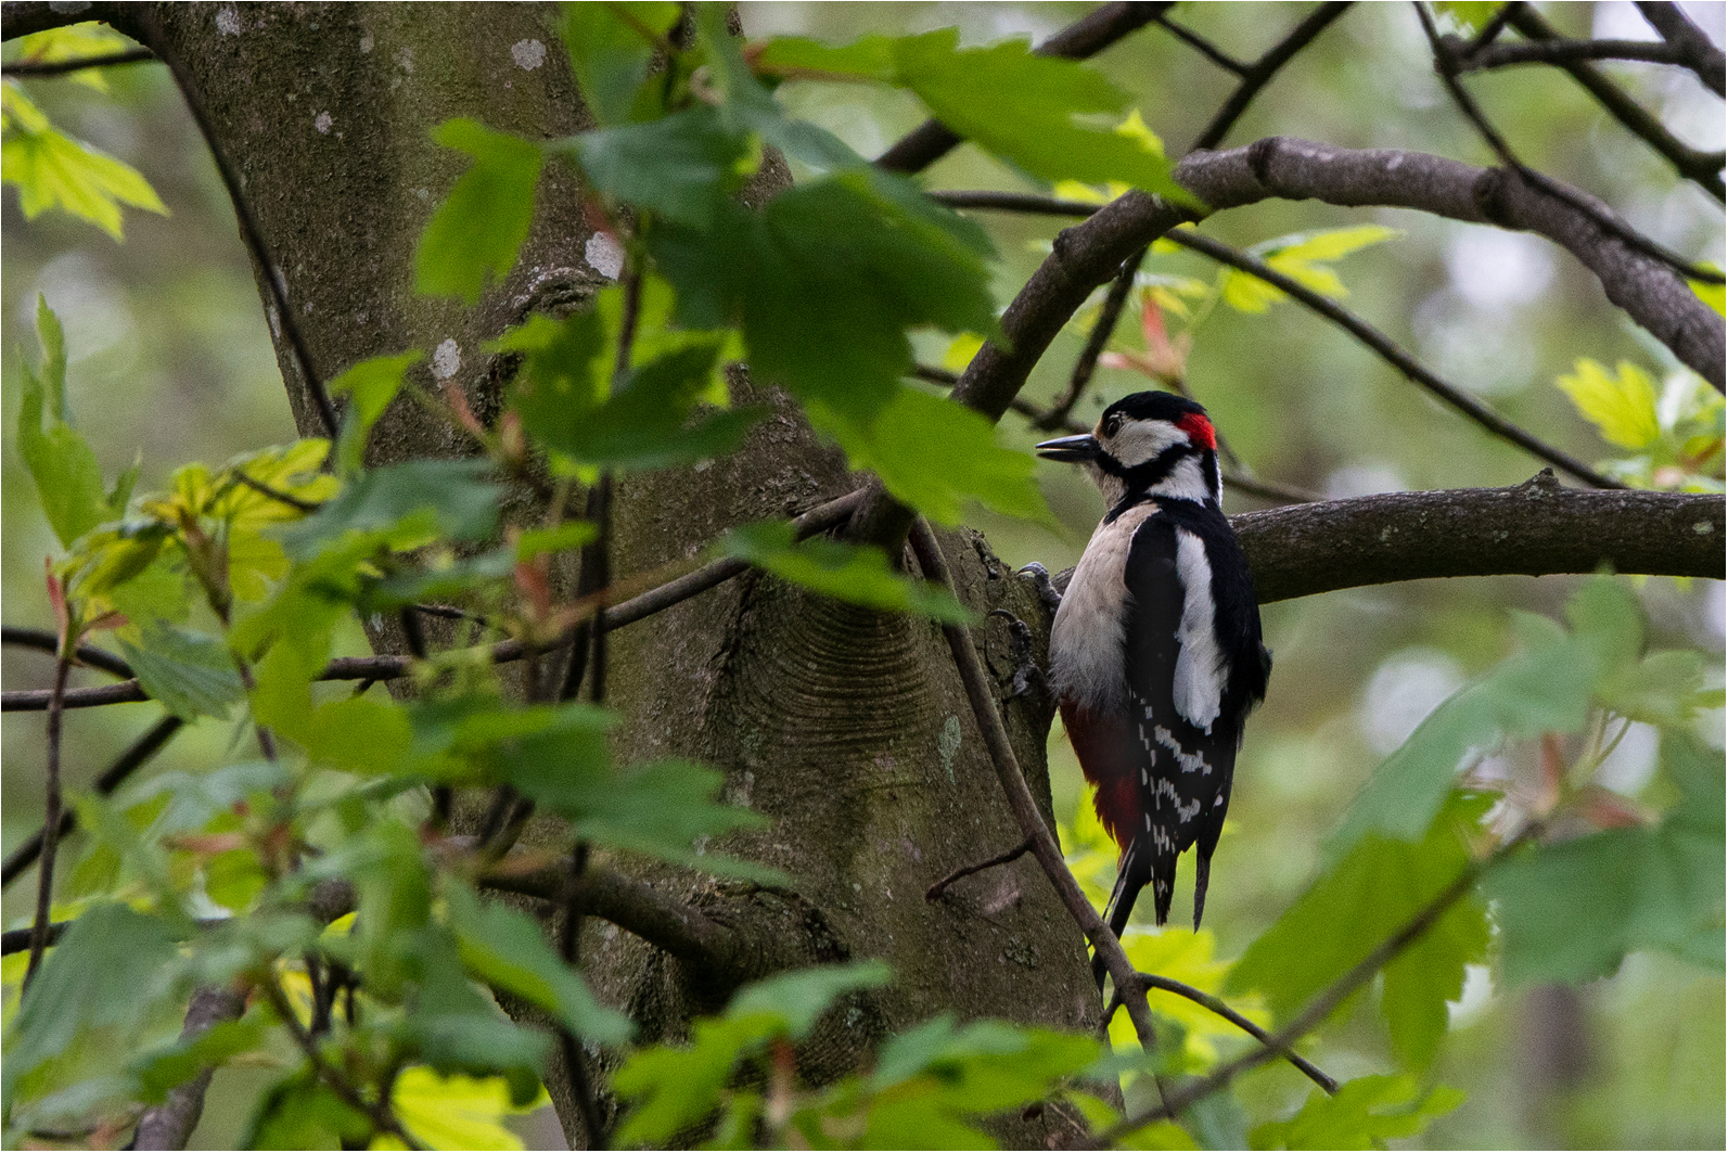
{"label": "long thin dark twig sloping down rightward beneath the arching thick branch", "polygon": [[[983,194],[976,192],[964,192],[959,195],[937,192],[933,195],[937,201],[942,201],[943,204],[959,204],[961,201],[968,201],[969,204],[964,204],[966,207],[987,207],[1009,213],[1044,211],[1051,216],[1075,216],[1080,214],[1078,209],[1097,211],[1097,206],[1077,204],[1071,201],[1045,201],[1045,204],[1040,207],[1037,204],[1037,197],[1016,197],[1014,202],[1006,204],[1006,202],[983,202],[980,199]],[[1087,214],[1090,214],[1090,211]],[[1410,356],[1410,353],[1398,347],[1398,344],[1394,344],[1391,337],[1382,334],[1379,328],[1362,320],[1348,308],[1341,306],[1337,301],[1332,301],[1331,297],[1315,292],[1308,285],[1291,277],[1286,277],[1284,273],[1272,268],[1265,261],[1256,259],[1248,252],[1234,249],[1227,244],[1213,240],[1211,237],[1204,237],[1194,232],[1192,228],[1172,228],[1168,233],[1165,233],[1165,239],[1170,240],[1172,244],[1178,244],[1185,249],[1192,249],[1196,252],[1210,256],[1220,264],[1229,264],[1230,268],[1241,270],[1251,277],[1265,280],[1275,289],[1284,290],[1286,294],[1289,294],[1312,311],[1320,313],[1322,316],[1336,323],[1339,328],[1356,337],[1362,344],[1369,346],[1375,354],[1381,356],[1381,360],[1384,360],[1393,368],[1401,372],[1410,382],[1422,385],[1436,398],[1439,398],[1452,408],[1458,410],[1460,413],[1479,424],[1488,432],[1498,436],[1503,441],[1517,444],[1519,448],[1531,453],[1538,460],[1545,460],[1555,468],[1560,468],[1578,477],[1585,484],[1595,486],[1598,489],[1626,487],[1619,481],[1614,481],[1612,477],[1597,472],[1595,468],[1578,460],[1571,453],[1566,453],[1548,444],[1547,441],[1536,437],[1534,434],[1528,432],[1526,429],[1512,424],[1510,420],[1507,420],[1495,410],[1488,408],[1464,389],[1446,384],[1433,372],[1424,368],[1420,361]]]}

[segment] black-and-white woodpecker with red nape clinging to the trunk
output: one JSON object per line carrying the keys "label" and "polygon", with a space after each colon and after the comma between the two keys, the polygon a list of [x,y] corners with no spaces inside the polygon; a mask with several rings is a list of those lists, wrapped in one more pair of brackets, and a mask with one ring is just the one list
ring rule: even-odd
{"label": "black-and-white woodpecker with red nape clinging to the trunk", "polygon": [[1083,465],[1108,506],[1056,610],[1051,685],[1121,850],[1104,909],[1118,935],[1147,883],[1165,923],[1189,845],[1199,928],[1242,723],[1272,671],[1248,560],[1218,508],[1217,449],[1206,410],[1170,392],[1127,396],[1090,434],[1037,448]]}

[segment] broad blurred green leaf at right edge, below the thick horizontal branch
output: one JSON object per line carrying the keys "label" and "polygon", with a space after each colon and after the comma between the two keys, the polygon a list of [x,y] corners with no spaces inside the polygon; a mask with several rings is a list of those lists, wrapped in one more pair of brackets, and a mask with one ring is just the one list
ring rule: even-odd
{"label": "broad blurred green leaf at right edge, below the thick horizontal branch", "polygon": [[1657,828],[1536,845],[1490,875],[1509,984],[1593,980],[1633,949],[1723,966],[1721,754],[1668,733],[1661,761],[1681,797]]}

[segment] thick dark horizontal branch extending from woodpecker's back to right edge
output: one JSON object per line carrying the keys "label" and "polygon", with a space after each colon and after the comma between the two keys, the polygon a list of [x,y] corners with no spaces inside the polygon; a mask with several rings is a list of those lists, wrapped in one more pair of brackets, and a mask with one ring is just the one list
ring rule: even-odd
{"label": "thick dark horizontal branch extending from woodpecker's back to right edge", "polygon": [[1429,577],[1616,572],[1723,579],[1723,498],[1562,487],[1386,493],[1232,517],[1261,603]]}

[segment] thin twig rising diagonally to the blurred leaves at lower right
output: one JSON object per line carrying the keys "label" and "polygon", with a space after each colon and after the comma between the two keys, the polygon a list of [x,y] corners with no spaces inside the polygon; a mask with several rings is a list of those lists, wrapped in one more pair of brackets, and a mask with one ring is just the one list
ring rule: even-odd
{"label": "thin twig rising diagonally to the blurred leaves at lower right", "polygon": [[1531,840],[1538,831],[1538,823],[1526,825],[1524,830],[1500,845],[1495,852],[1483,857],[1481,861],[1472,861],[1464,871],[1458,873],[1446,889],[1439,892],[1433,901],[1427,902],[1415,916],[1405,921],[1391,937],[1382,940],[1374,951],[1362,958],[1348,973],[1334,980],[1331,985],[1322,989],[1313,996],[1312,1001],[1298,1013],[1289,1025],[1279,1032],[1267,1037],[1260,1049],[1244,1053],[1242,1056],[1220,1065],[1206,1077],[1192,1080],[1175,1092],[1170,1092],[1165,1101],[1151,1110],[1128,1117],[1111,1129],[1099,1134],[1099,1141],[1104,1146],[1113,1144],[1118,1137],[1123,1137],[1142,1125],[1147,1125],[1158,1118],[1175,1118],[1180,1117],[1187,1108],[1199,1103],[1201,1099],[1218,1092],[1239,1075],[1260,1068],[1267,1061],[1272,1061],[1286,1053],[1291,1053],[1294,1044],[1301,1041],[1315,1025],[1324,1022],[1332,1015],[1339,1004],[1343,1004],[1351,994],[1362,989],[1365,984],[1374,980],[1374,975],[1386,968],[1393,959],[1398,958],[1405,949],[1422,939],[1429,928],[1434,927],[1439,918],[1446,914],[1452,906],[1462,901],[1477,882],[1491,870],[1507,859],[1514,850]]}

